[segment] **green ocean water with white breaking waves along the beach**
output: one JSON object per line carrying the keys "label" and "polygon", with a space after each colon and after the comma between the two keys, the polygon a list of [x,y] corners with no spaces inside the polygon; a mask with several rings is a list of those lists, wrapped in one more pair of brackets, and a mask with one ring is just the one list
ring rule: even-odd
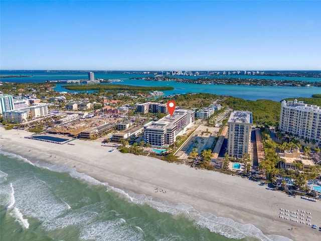
{"label": "green ocean water with white breaking waves along the beach", "polygon": [[252,224],[0,154],[0,240],[288,240]]}

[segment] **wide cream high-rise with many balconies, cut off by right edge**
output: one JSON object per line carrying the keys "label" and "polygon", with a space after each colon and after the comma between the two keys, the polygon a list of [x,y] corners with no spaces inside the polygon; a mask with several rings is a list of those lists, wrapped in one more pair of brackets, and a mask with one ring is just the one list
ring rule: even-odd
{"label": "wide cream high-rise with many balconies, cut off by right edge", "polygon": [[[303,101],[281,102],[279,129],[300,139],[321,144],[321,108]],[[314,140],[314,141],[313,141]]]}

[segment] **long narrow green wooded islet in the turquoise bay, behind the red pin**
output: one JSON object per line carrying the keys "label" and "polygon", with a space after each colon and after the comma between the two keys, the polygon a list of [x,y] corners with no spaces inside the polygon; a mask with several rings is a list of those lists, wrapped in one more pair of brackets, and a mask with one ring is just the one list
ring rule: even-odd
{"label": "long narrow green wooded islet in the turquoise bay, behind the red pin", "polygon": [[81,84],[81,85],[63,85],[62,87],[69,90],[142,90],[142,91],[154,91],[154,90],[172,90],[170,86],[132,86],[122,84]]}

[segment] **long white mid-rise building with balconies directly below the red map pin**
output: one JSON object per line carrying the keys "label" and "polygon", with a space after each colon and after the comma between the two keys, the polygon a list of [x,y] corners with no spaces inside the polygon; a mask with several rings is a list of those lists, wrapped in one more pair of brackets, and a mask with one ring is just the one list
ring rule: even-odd
{"label": "long white mid-rise building with balconies directly below the red map pin", "polygon": [[195,111],[177,109],[156,122],[144,125],[144,140],[153,147],[168,147],[176,141],[178,135],[195,124]]}

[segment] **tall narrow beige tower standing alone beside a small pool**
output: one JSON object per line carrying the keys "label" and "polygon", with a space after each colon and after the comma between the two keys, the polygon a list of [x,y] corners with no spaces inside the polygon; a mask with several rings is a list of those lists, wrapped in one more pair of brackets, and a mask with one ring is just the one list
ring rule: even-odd
{"label": "tall narrow beige tower standing alone beside a small pool", "polygon": [[252,112],[235,110],[228,119],[228,155],[243,158],[251,150]]}

